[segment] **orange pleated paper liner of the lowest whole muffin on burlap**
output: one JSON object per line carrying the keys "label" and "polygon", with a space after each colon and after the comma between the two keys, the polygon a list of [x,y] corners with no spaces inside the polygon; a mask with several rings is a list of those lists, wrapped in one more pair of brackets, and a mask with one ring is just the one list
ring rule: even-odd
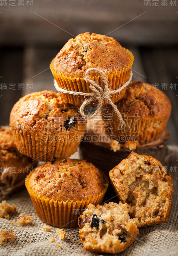
{"label": "orange pleated paper liner of the lowest whole muffin on burlap", "polygon": [[[104,176],[105,177],[105,176]],[[101,204],[104,195],[108,188],[109,181],[105,179],[107,183],[104,184],[104,189],[96,196],[82,201],[54,201],[48,198],[37,196],[29,188],[30,174],[25,180],[25,186],[34,204],[38,217],[43,222],[56,227],[75,228],[78,227],[78,217],[81,215],[82,210],[87,207],[88,204]]]}

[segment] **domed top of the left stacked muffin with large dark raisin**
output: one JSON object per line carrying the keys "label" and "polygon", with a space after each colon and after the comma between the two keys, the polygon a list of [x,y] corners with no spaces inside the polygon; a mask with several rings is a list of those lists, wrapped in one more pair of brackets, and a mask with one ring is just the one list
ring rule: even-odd
{"label": "domed top of the left stacked muffin with large dark raisin", "polygon": [[27,94],[15,103],[10,126],[18,132],[37,129],[42,133],[66,133],[70,128],[80,128],[78,117],[76,108],[70,108],[61,93],[45,90]]}

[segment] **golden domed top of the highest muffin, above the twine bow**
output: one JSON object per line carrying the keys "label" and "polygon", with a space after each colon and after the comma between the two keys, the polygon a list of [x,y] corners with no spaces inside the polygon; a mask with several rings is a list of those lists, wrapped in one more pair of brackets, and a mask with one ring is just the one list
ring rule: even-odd
{"label": "golden domed top of the highest muffin, above the twine bow", "polygon": [[128,67],[130,58],[113,38],[89,32],[69,39],[54,58],[59,74],[83,77],[88,68],[101,68],[106,74]]}

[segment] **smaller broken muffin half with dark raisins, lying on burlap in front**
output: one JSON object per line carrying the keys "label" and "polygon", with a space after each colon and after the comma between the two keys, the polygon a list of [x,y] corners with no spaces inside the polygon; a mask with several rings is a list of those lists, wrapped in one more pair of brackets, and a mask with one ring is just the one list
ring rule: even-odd
{"label": "smaller broken muffin half with dark raisins, lying on burlap in front", "polygon": [[79,233],[84,250],[119,253],[133,243],[139,229],[130,219],[126,204],[89,204],[79,217]]}

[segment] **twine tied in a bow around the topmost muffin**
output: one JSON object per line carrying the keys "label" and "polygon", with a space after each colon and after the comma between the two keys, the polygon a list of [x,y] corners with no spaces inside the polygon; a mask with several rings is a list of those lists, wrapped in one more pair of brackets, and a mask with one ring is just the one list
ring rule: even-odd
{"label": "twine tied in a bow around the topmost muffin", "polygon": [[[101,75],[100,77],[101,77],[101,79],[103,81],[103,84],[104,84],[103,88],[99,83],[90,79],[89,72],[91,72],[91,71],[98,72]],[[116,115],[118,116],[118,118],[120,120],[120,125],[123,126],[125,124],[124,120],[123,120],[123,118],[121,116],[121,113],[118,110],[117,106],[112,101],[111,96],[112,96],[112,94],[119,93],[124,88],[126,88],[128,86],[128,84],[130,83],[130,81],[132,80],[132,76],[133,76],[133,73],[132,73],[132,71],[130,71],[130,76],[129,76],[128,81],[126,83],[122,84],[118,89],[112,90],[111,88],[109,88],[107,77],[101,69],[99,69],[99,68],[88,68],[86,73],[85,73],[85,78],[84,79],[85,79],[86,82],[89,83],[89,88],[92,92],[74,92],[74,91],[68,91],[66,89],[59,88],[56,80],[54,80],[54,86],[55,86],[55,88],[58,92],[69,93],[69,94],[73,94],[73,95],[81,95],[81,96],[87,97],[82,102],[82,104],[80,106],[80,109],[79,109],[81,116],[83,118],[87,119],[87,120],[93,119],[96,116],[98,116],[102,112],[102,107],[104,105],[104,101],[107,101],[108,104],[110,104],[112,106]],[[98,102],[97,109],[93,113],[90,112],[89,114],[85,114],[84,108],[93,101]]]}

